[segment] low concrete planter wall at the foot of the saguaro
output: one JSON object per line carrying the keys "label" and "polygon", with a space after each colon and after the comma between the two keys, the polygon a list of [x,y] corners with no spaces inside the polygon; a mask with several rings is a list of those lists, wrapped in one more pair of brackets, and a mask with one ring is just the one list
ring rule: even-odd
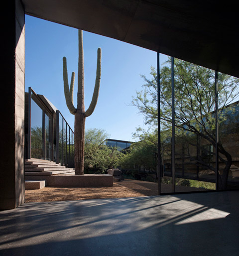
{"label": "low concrete planter wall at the foot of the saguaro", "polygon": [[54,187],[113,187],[109,174],[26,176],[26,180],[45,180],[46,186]]}

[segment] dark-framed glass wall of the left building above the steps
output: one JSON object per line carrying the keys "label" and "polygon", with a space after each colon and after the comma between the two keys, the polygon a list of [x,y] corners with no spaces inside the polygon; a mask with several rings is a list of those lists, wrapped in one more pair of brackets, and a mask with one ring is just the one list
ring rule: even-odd
{"label": "dark-framed glass wall of the left building above the steps", "polygon": [[55,161],[74,168],[74,132],[64,117],[59,111],[54,112],[44,102],[44,97],[30,87],[27,105],[25,157]]}

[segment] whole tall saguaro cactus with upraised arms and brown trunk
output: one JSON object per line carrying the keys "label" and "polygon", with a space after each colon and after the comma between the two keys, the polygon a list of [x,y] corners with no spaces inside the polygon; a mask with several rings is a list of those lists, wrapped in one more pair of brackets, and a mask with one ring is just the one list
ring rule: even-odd
{"label": "whole tall saguaro cactus with upraised arms and brown trunk", "polygon": [[85,148],[85,121],[95,110],[101,81],[101,48],[97,51],[96,83],[91,104],[85,111],[84,104],[84,53],[83,53],[83,32],[79,30],[79,60],[78,60],[78,92],[77,108],[73,104],[73,91],[75,72],[72,72],[69,89],[66,57],[63,57],[63,79],[66,105],[71,114],[75,115],[75,169],[76,175],[84,175],[84,148]]}

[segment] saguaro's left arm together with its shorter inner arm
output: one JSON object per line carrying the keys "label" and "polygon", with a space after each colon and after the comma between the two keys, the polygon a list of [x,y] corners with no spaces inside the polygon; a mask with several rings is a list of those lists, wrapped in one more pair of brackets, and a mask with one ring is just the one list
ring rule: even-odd
{"label": "saguaro's left arm together with its shorter inner arm", "polygon": [[72,72],[71,76],[71,92],[69,91],[68,84],[68,74],[67,74],[67,65],[66,65],[66,57],[63,57],[63,80],[64,80],[64,93],[66,98],[66,105],[71,114],[75,115],[76,108],[73,105],[73,89],[74,89],[74,81],[75,81],[75,72]]}

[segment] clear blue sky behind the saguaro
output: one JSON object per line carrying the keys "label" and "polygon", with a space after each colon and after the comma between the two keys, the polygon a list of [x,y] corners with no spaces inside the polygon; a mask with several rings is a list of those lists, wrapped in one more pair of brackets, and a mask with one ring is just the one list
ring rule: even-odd
{"label": "clear blue sky behind the saguaro", "polygon": [[[74,116],[65,103],[62,58],[67,58],[68,80],[76,72],[74,105],[77,104],[78,30],[35,17],[25,16],[25,91],[28,87],[43,94],[63,114],[74,129]],[[86,129],[103,128],[110,138],[132,140],[143,125],[143,116],[130,106],[132,96],[142,90],[150,66],[156,67],[156,52],[105,36],[83,32],[85,64],[85,108],[95,86],[97,49],[102,48],[100,94],[94,113],[86,119]],[[166,56],[161,55],[160,62]]]}

